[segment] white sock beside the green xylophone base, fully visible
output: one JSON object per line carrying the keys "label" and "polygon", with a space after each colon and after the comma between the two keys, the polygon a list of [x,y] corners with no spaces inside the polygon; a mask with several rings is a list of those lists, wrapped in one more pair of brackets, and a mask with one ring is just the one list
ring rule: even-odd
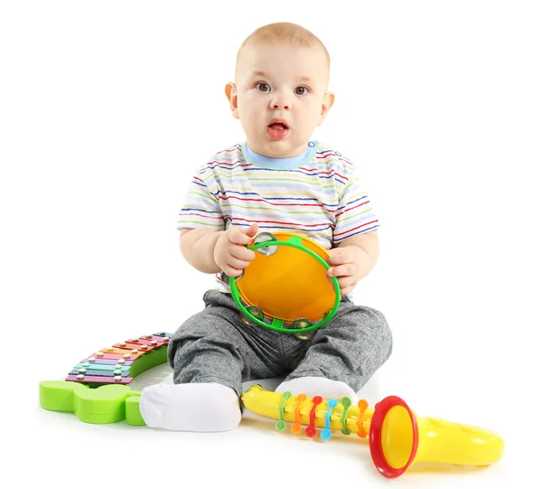
{"label": "white sock beside the green xylophone base, fully visible", "polygon": [[145,387],[139,409],[148,427],[176,431],[229,431],[241,421],[235,390],[215,382]]}

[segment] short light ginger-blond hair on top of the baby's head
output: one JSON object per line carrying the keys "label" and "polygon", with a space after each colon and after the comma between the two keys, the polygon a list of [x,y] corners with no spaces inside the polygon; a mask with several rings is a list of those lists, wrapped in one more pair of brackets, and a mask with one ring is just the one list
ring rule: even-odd
{"label": "short light ginger-blond hair on top of the baby's head", "polygon": [[292,24],[289,22],[276,22],[274,24],[266,24],[257,28],[256,31],[249,34],[247,39],[241,44],[238,49],[238,56],[243,51],[243,48],[250,43],[284,43],[292,46],[312,48],[314,46],[321,47],[330,64],[330,54],[323,42],[318,39],[311,31],[305,29],[301,25]]}

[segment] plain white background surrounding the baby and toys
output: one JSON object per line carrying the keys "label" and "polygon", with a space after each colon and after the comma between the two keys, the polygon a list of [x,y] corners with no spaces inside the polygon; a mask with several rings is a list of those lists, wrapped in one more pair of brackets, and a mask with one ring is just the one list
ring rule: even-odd
{"label": "plain white background surrounding the baby and toys", "polygon": [[[86,425],[39,407],[39,381],[201,309],[212,278],[183,261],[176,215],[194,168],[242,140],[223,88],[238,45],[276,21],[303,24],[331,53],[336,104],[314,136],[361,166],[382,224],[378,265],[356,297],[387,315],[395,348],[360,397],[397,395],[507,444],[484,470],[412,470],[389,484],[505,487],[528,462],[537,470],[539,3],[1,5],[3,477],[15,487],[389,483],[366,442],[295,439],[250,413],[204,435]],[[171,381],[167,365],[147,373]]]}

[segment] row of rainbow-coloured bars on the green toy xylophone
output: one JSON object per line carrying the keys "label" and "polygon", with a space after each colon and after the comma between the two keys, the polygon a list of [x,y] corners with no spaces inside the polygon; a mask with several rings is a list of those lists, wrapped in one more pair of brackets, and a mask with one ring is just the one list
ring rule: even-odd
{"label": "row of rainbow-coloured bars on the green toy xylophone", "polygon": [[135,363],[144,355],[166,346],[172,333],[145,334],[115,343],[77,362],[66,381],[91,384],[129,384],[138,372]]}

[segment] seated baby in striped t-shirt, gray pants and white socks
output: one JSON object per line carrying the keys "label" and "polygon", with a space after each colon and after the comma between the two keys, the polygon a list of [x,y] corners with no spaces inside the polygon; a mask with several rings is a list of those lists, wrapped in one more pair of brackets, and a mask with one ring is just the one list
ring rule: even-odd
{"label": "seated baby in striped t-shirt, gray pants and white socks", "polygon": [[[178,221],[182,256],[215,274],[216,287],[173,334],[173,385],[142,392],[149,427],[235,428],[242,382],[253,379],[284,378],[276,391],[356,403],[356,392],[388,360],[392,335],[384,315],[349,297],[378,258],[378,219],[356,167],[312,139],[333,105],[329,73],[322,42],[296,24],[265,25],[239,48],[226,95],[246,140],[200,166]],[[304,236],[331,254],[327,273],[338,279],[341,303],[311,334],[241,319],[222,272],[238,277],[255,257],[247,245],[263,231]]]}

